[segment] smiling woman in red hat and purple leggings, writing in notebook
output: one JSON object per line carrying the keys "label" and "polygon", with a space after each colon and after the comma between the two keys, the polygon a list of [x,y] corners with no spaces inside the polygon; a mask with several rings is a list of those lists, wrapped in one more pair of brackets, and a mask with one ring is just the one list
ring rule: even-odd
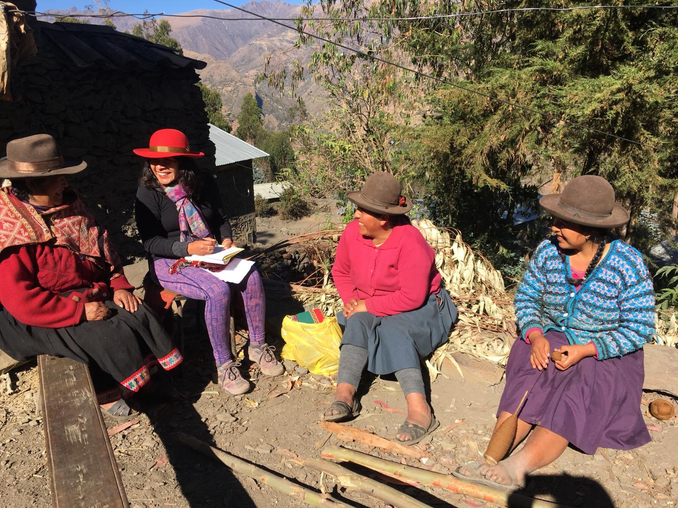
{"label": "smiling woman in red hat and purple leggings, writing in notebook", "polygon": [[[217,242],[231,247],[221,196],[212,175],[199,171],[193,162],[203,152],[191,150],[188,138],[176,129],[161,129],[151,136],[148,148],[134,153],[146,162],[136,193],[136,224],[148,253],[151,277],[163,288],[205,301],[205,324],[210,335],[219,383],[231,395],[244,394],[250,382],[243,379],[233,360],[228,331],[231,291],[240,291],[250,329],[250,360],[266,375],[281,375],[283,366],[273,347],[264,342],[266,300],[261,278],[252,270],[243,282],[224,282],[206,270],[188,266],[169,270],[187,255],[214,252]],[[173,273],[170,273],[172,271]]]}

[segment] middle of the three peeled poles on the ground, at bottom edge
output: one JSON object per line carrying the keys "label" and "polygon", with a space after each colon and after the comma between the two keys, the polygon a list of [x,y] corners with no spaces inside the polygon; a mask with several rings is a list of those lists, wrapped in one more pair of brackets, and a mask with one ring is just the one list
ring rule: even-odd
{"label": "middle of the three peeled poles on the ground, at bottom edge", "polygon": [[308,459],[304,462],[304,465],[332,475],[342,486],[358,488],[366,494],[376,497],[376,499],[381,499],[385,503],[393,505],[395,508],[431,508],[430,505],[425,505],[421,501],[414,499],[414,497],[403,494],[403,492],[393,487],[354,473],[334,462],[324,461],[323,459]]}

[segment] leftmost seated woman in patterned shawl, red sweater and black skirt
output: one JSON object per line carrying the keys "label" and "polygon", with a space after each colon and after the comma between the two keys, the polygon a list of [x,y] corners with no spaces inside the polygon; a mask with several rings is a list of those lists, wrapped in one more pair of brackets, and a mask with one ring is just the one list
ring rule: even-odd
{"label": "leftmost seated woman in patterned shawl, red sweater and black skirt", "polygon": [[153,314],[132,295],[108,234],[68,188],[54,138],[7,144],[0,177],[0,349],[16,360],[64,356],[89,366],[102,408],[114,417],[160,364],[182,361]]}

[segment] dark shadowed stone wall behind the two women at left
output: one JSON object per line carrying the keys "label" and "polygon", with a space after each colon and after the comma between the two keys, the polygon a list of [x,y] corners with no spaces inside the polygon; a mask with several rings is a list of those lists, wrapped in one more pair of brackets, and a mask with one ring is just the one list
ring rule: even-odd
{"label": "dark shadowed stone wall behind the two women at left", "polygon": [[[188,135],[192,148],[205,152],[199,164],[214,167],[214,144],[195,86],[199,77],[191,66],[138,64],[134,59],[81,67],[37,28],[37,56],[14,69],[12,77],[14,91],[23,98],[0,102],[0,156],[10,140],[54,135],[64,157],[87,161],[87,170],[68,177],[69,182],[111,232],[123,258],[143,257],[134,226],[142,159],[132,149],[148,146],[153,131],[174,127]],[[121,58],[129,59],[129,54]]]}

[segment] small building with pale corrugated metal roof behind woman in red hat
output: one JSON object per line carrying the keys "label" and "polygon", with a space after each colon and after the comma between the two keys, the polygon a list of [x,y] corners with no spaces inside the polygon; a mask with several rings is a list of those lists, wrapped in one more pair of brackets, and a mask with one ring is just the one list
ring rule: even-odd
{"label": "small building with pale corrugated metal roof behind woman in red hat", "polygon": [[211,123],[207,125],[216,150],[214,177],[230,217],[233,240],[254,243],[256,213],[252,159],[268,157],[268,154]]}

